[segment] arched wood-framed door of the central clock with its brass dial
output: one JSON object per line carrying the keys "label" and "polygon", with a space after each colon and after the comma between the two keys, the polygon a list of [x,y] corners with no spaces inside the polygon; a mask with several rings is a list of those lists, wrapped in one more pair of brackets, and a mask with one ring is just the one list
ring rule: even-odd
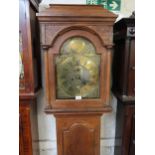
{"label": "arched wood-framed door of the central clock with its brass dial", "polygon": [[104,108],[109,99],[110,54],[98,36],[80,26],[64,30],[45,53],[45,63],[53,108]]}

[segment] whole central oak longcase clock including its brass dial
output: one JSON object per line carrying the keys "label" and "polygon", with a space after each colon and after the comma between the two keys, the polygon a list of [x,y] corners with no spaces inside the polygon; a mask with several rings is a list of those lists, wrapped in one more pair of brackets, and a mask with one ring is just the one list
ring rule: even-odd
{"label": "whole central oak longcase clock including its brass dial", "polygon": [[45,111],[56,117],[58,155],[99,155],[100,118],[111,111],[117,16],[94,5],[50,5],[37,16],[45,59]]}

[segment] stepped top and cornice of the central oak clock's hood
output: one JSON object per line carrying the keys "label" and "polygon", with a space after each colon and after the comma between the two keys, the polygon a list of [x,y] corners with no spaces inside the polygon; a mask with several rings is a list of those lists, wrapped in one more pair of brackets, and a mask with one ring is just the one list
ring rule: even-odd
{"label": "stepped top and cornice of the central oak clock's hood", "polygon": [[[112,25],[116,15],[103,9],[102,5],[57,5],[51,4],[49,8],[40,12],[38,19],[41,22],[53,21],[106,21]],[[61,17],[61,18],[60,18]],[[62,18],[63,17],[63,18]]]}

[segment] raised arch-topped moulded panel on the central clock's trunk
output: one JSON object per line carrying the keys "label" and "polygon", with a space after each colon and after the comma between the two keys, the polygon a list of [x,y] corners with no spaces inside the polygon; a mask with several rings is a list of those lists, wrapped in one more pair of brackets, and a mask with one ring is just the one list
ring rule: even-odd
{"label": "raised arch-topped moulded panel on the central clock's trunk", "polygon": [[95,130],[83,124],[73,124],[63,132],[63,155],[95,155]]}

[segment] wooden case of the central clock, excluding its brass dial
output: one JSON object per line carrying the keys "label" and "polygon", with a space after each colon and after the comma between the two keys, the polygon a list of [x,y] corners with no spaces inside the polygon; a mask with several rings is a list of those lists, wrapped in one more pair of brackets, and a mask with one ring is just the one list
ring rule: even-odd
{"label": "wooden case of the central clock, excluding its brass dial", "polygon": [[[47,114],[56,117],[58,155],[99,155],[100,117],[111,111],[110,68],[116,15],[92,5],[50,5],[37,13],[44,52]],[[72,37],[90,41],[100,55],[100,96],[97,99],[57,99],[54,58]]]}

